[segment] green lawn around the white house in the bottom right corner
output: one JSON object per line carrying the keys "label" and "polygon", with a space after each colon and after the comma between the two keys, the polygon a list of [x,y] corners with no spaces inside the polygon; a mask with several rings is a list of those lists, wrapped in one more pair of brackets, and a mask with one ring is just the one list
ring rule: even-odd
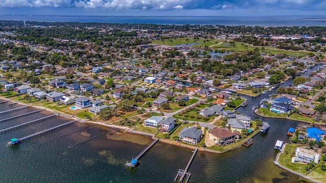
{"label": "green lawn around the white house in the bottom right corner", "polygon": [[320,170],[320,166],[322,165],[323,161],[319,161],[319,163],[315,165],[316,168],[311,172],[306,172],[307,165],[302,163],[291,162],[292,157],[294,157],[295,148],[296,144],[286,144],[284,153],[280,155],[279,163],[291,170],[304,174],[308,177],[314,175],[314,179],[319,180],[321,182],[326,182],[326,171]]}

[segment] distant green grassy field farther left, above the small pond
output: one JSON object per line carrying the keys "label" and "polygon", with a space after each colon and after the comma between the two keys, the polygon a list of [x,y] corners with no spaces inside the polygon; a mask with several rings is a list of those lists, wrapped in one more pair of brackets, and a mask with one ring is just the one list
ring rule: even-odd
{"label": "distant green grassy field farther left, above the small pond", "polygon": [[[186,41],[188,39],[188,41]],[[204,40],[206,42],[204,43]],[[216,43],[217,42],[217,43]],[[177,38],[177,39],[164,39],[164,40],[153,40],[153,44],[158,44],[158,45],[168,45],[168,46],[174,46],[174,45],[180,45],[180,44],[189,44],[189,43],[201,43],[198,45],[194,45],[196,47],[201,47],[201,46],[213,46],[216,44],[221,43],[222,40],[214,40],[214,39],[199,39],[195,40],[194,38]]]}

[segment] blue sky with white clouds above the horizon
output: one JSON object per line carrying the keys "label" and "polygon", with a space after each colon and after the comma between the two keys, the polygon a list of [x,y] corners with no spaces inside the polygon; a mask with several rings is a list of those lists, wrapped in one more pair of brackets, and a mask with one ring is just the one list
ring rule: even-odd
{"label": "blue sky with white clouds above the horizon", "polygon": [[326,0],[0,0],[0,14],[117,16],[325,15]]}

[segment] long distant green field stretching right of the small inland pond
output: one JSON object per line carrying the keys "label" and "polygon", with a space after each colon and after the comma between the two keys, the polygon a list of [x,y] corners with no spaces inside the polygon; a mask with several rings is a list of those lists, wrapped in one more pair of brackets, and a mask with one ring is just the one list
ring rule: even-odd
{"label": "long distant green field stretching right of the small inland pond", "polygon": [[[244,47],[244,45],[247,45],[248,48]],[[254,50],[255,48],[262,48],[262,46],[253,46],[250,44],[243,43],[243,46],[241,45],[240,42],[236,42],[235,46],[228,46],[227,43],[225,44],[220,44],[213,46],[214,48],[217,49],[224,49],[224,50],[231,50],[231,51],[247,51],[247,50]],[[277,48],[271,48],[271,47],[264,47],[265,48],[265,53],[266,54],[287,54],[291,56],[307,56],[309,53],[308,51],[293,51],[293,50],[284,50],[284,49],[277,49]]]}

